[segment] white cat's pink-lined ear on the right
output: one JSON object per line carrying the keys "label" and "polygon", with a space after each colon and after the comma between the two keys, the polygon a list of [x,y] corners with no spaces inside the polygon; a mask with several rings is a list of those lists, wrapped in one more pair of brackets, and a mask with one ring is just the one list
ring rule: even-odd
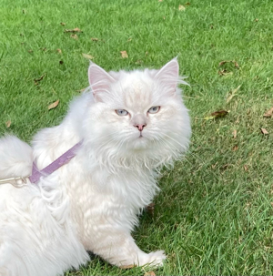
{"label": "white cat's pink-lined ear on the right", "polygon": [[163,66],[157,72],[155,78],[163,87],[167,87],[171,93],[175,93],[179,81],[179,65],[177,57],[173,58]]}

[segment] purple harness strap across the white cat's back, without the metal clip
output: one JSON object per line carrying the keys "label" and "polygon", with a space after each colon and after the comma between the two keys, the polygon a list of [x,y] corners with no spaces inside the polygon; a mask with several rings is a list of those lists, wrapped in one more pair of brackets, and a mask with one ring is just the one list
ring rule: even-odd
{"label": "purple harness strap across the white cat's back, without the metal clip", "polygon": [[45,169],[38,170],[33,163],[32,175],[29,177],[31,183],[37,183],[41,177],[46,177],[52,174],[56,169],[59,169],[63,165],[67,164],[72,158],[76,156],[76,151],[81,147],[83,141],[78,142],[73,148],[68,149],[59,158],[56,158],[51,164],[49,164]]}

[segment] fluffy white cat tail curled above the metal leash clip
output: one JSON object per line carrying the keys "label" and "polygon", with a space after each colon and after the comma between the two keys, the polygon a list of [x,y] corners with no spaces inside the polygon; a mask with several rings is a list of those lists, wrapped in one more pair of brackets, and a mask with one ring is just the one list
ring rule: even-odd
{"label": "fluffy white cat tail curled above the metal leash clip", "polygon": [[31,175],[32,148],[15,136],[0,138],[0,179]]}

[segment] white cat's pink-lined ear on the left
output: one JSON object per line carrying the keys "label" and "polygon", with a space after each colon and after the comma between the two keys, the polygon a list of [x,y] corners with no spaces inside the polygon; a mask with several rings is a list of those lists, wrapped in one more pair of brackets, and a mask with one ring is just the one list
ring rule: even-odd
{"label": "white cat's pink-lined ear on the left", "polygon": [[90,87],[96,100],[101,101],[99,94],[108,92],[115,79],[111,77],[102,67],[91,62],[88,68],[88,79]]}

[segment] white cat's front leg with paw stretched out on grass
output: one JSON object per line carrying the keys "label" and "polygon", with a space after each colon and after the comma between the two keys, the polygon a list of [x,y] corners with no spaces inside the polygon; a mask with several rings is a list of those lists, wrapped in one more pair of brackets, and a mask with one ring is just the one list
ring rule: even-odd
{"label": "white cat's front leg with paw stretched out on grass", "polygon": [[86,250],[93,251],[96,255],[119,267],[147,264],[161,266],[166,259],[163,250],[150,253],[140,250],[131,235],[120,229],[101,230],[100,228],[99,233],[96,232],[95,236],[92,241],[89,240]]}

